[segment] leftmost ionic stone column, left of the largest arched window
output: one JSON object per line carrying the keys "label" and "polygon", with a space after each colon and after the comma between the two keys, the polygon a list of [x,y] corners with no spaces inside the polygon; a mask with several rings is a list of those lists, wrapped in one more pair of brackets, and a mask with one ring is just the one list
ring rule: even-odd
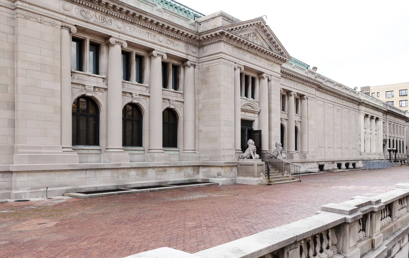
{"label": "leftmost ionic stone column, left of the largest arched window", "polygon": [[71,38],[76,27],[61,24],[61,146],[72,151],[72,103],[71,103]]}

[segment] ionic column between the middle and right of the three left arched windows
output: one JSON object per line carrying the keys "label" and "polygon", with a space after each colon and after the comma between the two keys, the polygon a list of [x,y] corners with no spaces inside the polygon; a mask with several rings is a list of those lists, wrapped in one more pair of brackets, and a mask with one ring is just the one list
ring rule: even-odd
{"label": "ionic column between the middle and right of the three left arched windows", "polygon": [[156,50],[149,52],[148,56],[151,57],[148,152],[160,153],[164,152],[162,147],[162,58],[166,59],[167,56]]}

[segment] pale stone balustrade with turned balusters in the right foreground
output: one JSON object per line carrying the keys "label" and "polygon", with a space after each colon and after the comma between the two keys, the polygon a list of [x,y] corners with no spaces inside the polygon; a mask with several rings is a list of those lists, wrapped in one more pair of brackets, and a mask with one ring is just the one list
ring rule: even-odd
{"label": "pale stone balustrade with turned balusters in the right foreground", "polygon": [[133,258],[369,258],[408,257],[409,183],[377,196],[322,205],[288,225],[189,254],[162,247]]}

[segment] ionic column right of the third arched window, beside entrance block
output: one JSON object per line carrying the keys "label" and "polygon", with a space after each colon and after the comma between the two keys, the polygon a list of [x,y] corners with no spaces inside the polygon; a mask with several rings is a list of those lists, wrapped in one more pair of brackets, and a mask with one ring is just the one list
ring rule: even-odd
{"label": "ionic column right of the third arched window, beside entrance block", "polygon": [[183,107],[183,153],[196,153],[196,113],[195,113],[195,66],[187,61],[184,66],[184,107]]}

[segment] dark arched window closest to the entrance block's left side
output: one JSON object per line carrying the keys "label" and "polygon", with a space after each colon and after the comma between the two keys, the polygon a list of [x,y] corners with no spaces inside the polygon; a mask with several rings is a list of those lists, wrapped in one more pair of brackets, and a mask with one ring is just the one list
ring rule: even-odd
{"label": "dark arched window closest to the entrance block's left side", "polygon": [[163,138],[164,148],[178,147],[178,117],[172,109],[163,111]]}

